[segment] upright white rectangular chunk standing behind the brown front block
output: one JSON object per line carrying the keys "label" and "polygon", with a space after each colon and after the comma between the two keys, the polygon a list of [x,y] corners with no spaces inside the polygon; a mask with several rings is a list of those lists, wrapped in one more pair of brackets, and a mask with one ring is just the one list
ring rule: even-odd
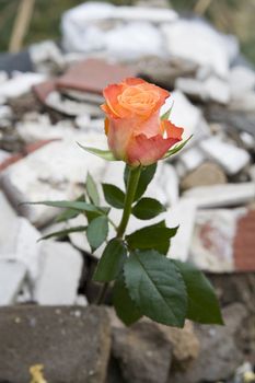
{"label": "upright white rectangular chunk standing behind the brown front block", "polygon": [[68,243],[42,244],[43,265],[35,285],[35,300],[39,304],[73,304],[82,271],[82,256]]}

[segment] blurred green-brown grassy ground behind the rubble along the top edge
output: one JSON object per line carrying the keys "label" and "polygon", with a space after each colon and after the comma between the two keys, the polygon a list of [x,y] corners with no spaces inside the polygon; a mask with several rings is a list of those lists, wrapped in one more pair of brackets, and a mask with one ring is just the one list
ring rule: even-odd
{"label": "blurred green-brown grassy ground behind the rubble along the top edge", "polygon": [[[132,5],[136,3],[136,0],[108,1],[117,5]],[[60,37],[61,14],[81,3],[80,0],[36,0],[24,45],[48,38],[58,39]],[[157,4],[157,0],[154,3]],[[19,4],[19,0],[0,1],[1,50],[8,50],[9,48]],[[236,35],[241,43],[241,50],[255,63],[255,3],[253,0],[169,0],[169,4],[184,15],[190,13],[202,14],[220,31]]]}

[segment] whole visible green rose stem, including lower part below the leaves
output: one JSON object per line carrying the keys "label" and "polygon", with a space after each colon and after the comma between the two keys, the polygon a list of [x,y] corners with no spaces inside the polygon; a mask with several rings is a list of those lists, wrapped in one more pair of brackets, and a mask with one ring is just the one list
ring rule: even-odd
{"label": "whole visible green rose stem, including lower part below the leaves", "polygon": [[[134,169],[129,169],[129,174],[128,174],[128,182],[127,182],[127,193],[125,196],[125,204],[124,204],[124,210],[123,210],[123,217],[121,217],[121,221],[117,228],[117,239],[123,239],[125,231],[127,229],[127,224],[129,221],[129,217],[131,214],[131,209],[132,209],[132,202],[134,202],[134,198],[136,196],[136,192],[137,192],[137,186],[138,186],[138,182],[140,178],[140,174],[141,174],[141,167],[134,167]],[[97,297],[97,300],[95,303],[97,304],[102,304],[104,302],[105,295],[107,293],[109,283],[106,282],[102,286],[102,289],[100,291],[100,294]]]}

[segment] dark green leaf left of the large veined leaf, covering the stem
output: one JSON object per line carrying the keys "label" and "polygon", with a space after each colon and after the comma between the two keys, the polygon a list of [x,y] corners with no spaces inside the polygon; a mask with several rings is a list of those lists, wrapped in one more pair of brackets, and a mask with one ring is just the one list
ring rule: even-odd
{"label": "dark green leaf left of the large veined leaf, covering the stem", "polygon": [[108,242],[95,269],[93,280],[109,282],[117,278],[127,258],[127,249],[121,240]]}

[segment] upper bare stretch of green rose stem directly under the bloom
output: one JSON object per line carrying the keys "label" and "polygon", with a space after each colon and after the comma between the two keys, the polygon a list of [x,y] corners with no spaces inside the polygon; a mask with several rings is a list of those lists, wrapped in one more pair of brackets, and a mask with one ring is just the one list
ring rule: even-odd
{"label": "upper bare stretch of green rose stem directly under the bloom", "polygon": [[117,230],[117,237],[121,239],[125,230],[127,229],[127,224],[129,221],[129,217],[131,213],[131,206],[134,202],[134,198],[137,192],[138,182],[141,174],[141,167],[134,167],[129,169],[128,174],[128,182],[127,182],[127,193],[125,197],[125,205],[124,205],[124,211],[123,211],[123,218],[119,223],[118,230]]}

